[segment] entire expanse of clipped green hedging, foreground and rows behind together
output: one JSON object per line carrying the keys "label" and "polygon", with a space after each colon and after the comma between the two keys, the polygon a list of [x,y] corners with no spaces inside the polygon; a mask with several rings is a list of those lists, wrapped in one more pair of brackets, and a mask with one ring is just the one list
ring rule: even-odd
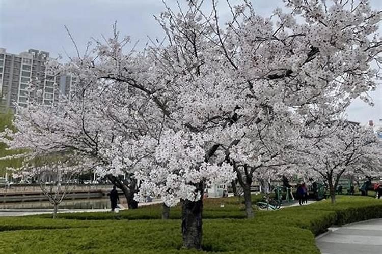
{"label": "entire expanse of clipped green hedging, foreground and rows behind together", "polygon": [[[66,213],[56,220],[4,217],[0,253],[200,253],[181,249],[180,208],[171,213],[173,219],[157,219],[155,205],[118,214]],[[315,235],[331,225],[382,217],[382,200],[339,196],[334,206],[320,201],[243,219],[237,198],[208,199],[204,217],[203,252],[319,253]]]}

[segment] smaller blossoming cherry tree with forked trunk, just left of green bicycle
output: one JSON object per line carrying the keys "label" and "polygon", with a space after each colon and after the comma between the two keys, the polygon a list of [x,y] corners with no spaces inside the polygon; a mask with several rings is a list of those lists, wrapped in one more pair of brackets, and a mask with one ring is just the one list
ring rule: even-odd
{"label": "smaller blossoming cherry tree with forked trunk, just left of green bicycle", "polygon": [[[238,183],[243,188],[248,218],[254,216],[251,201],[253,180],[277,180],[289,169],[289,157],[294,155],[301,122],[290,114],[286,116],[273,113],[268,116],[270,119],[263,118],[253,126],[254,130],[247,131],[247,135],[226,154],[227,160],[233,164]],[[268,191],[266,188],[265,192]]]}

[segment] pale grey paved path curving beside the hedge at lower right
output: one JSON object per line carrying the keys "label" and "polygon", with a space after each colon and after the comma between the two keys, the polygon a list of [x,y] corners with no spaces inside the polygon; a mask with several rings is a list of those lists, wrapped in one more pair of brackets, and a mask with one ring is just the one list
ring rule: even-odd
{"label": "pale grey paved path curving beside the hedge at lower right", "polygon": [[322,254],[376,254],[382,253],[382,219],[371,219],[329,228],[316,238]]}

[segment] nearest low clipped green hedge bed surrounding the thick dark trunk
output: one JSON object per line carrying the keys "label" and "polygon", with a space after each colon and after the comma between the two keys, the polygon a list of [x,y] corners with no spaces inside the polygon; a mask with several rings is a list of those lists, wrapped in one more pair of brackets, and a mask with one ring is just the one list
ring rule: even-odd
{"label": "nearest low clipped green hedge bed surrounding the thick dark trunk", "polygon": [[[0,252],[201,253],[181,249],[179,220],[121,220],[118,226],[97,222],[102,226],[1,232]],[[319,253],[313,234],[305,229],[235,219],[206,219],[203,225],[202,252]]]}

